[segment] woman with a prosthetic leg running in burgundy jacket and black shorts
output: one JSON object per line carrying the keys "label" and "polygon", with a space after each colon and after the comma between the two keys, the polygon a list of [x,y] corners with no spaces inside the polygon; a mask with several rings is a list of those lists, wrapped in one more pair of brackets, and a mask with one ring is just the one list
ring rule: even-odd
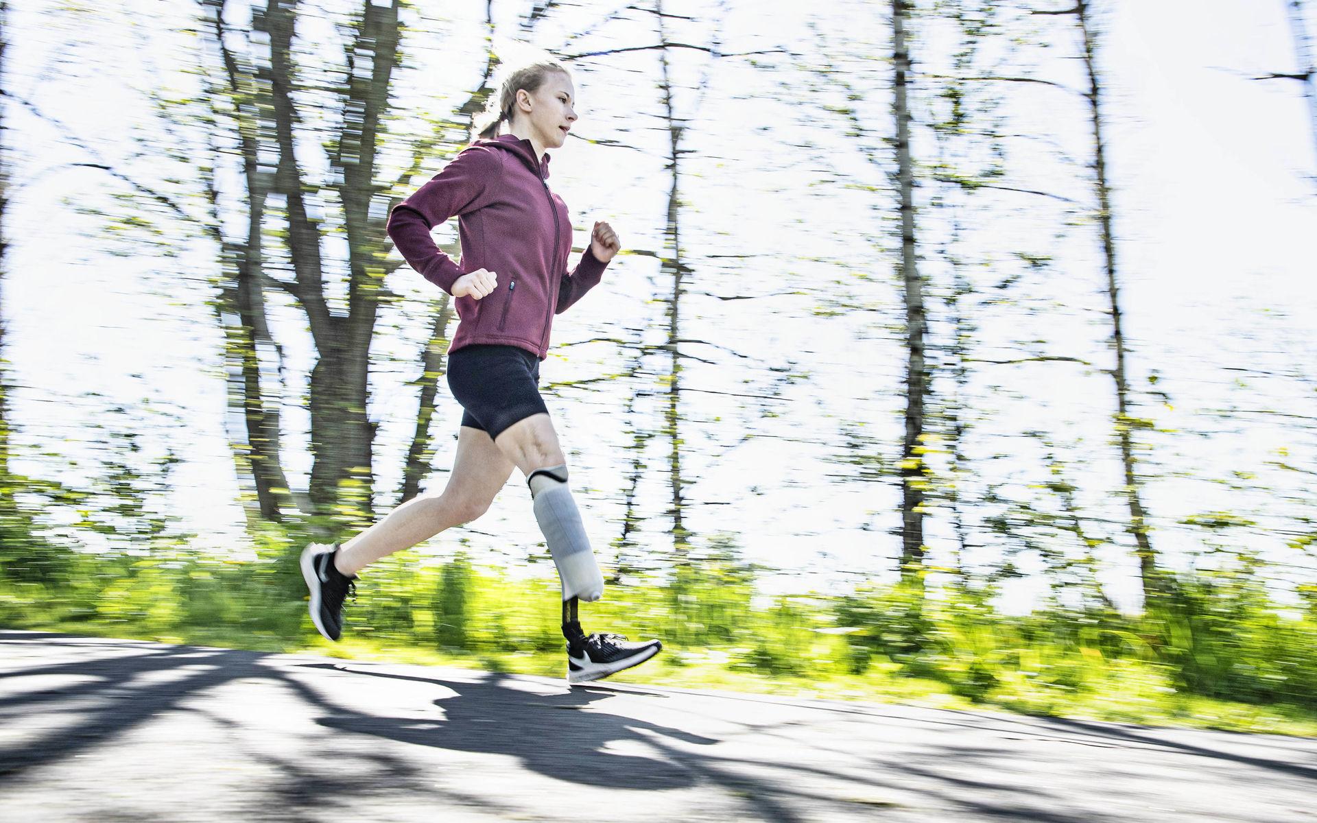
{"label": "woman with a prosthetic leg running in burgundy jacket and black shorts", "polygon": [[[427,280],[456,298],[457,332],[448,350],[448,386],[462,406],[457,457],[440,495],[407,500],[342,545],[311,544],[302,574],[311,589],[311,620],[329,640],[342,632],[342,602],[371,562],[479,518],[520,469],[535,518],[562,583],[568,682],[607,677],[653,657],[657,640],[586,636],[577,600],[603,597],[581,515],[568,489],[566,458],[540,396],[540,361],[548,356],[553,315],[566,311],[603,277],[622,248],[605,221],[568,273],[572,221],[549,191],[547,149],[561,147],[577,115],[572,75],[557,61],[514,71],[497,116],[433,179],[394,207],[389,237]],[[508,133],[500,134],[507,124]],[[431,230],[458,217],[461,262]]]}

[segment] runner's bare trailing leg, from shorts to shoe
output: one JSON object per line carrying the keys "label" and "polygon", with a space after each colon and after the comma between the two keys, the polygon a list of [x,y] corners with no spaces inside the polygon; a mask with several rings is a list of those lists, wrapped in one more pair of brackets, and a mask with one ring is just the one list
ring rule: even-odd
{"label": "runner's bare trailing leg, from shorts to shoe", "polygon": [[357,574],[381,557],[408,549],[446,528],[470,523],[485,514],[511,474],[512,462],[487,432],[461,427],[457,458],[444,492],[417,495],[389,512],[383,520],[342,544],[335,565],[344,574]]}

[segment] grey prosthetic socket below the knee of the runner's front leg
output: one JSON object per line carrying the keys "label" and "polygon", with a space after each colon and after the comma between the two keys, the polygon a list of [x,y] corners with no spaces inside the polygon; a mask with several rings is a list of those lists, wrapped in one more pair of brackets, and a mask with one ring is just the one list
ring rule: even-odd
{"label": "grey prosthetic socket below the knee of the runner's front leg", "polygon": [[536,469],[527,478],[535,500],[535,519],[562,581],[562,599],[590,603],[603,597],[603,574],[590,550],[581,512],[568,490],[568,467]]}

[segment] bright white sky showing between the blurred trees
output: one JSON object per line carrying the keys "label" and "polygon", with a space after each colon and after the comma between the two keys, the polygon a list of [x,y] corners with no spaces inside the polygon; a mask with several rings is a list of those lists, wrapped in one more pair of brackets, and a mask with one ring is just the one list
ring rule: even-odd
{"label": "bright white sky showing between the blurred trees", "polygon": [[[495,3],[503,37],[520,36],[516,20],[524,13],[522,5]],[[140,92],[159,83],[186,88],[188,79],[175,79],[174,72],[195,66],[198,58],[186,51],[188,38],[170,32],[187,25],[191,4],[138,1],[128,8],[141,13],[97,9],[76,21],[66,18],[58,28],[46,14],[49,7],[32,3],[12,12],[12,79],[7,82],[95,145],[116,169],[155,184],[163,167],[132,157],[132,140],[155,128]],[[720,29],[724,51],[774,47],[790,37],[792,47],[806,59],[824,62],[827,57],[857,88],[877,90],[857,108],[872,129],[869,145],[885,150],[881,138],[890,129],[889,67],[864,58],[890,51],[888,4],[852,3],[830,20],[817,20],[823,46],[803,25],[798,4],[727,7]],[[554,9],[536,30],[535,43],[558,47],[570,32],[597,24],[611,11],[612,5]],[[709,5],[666,3],[665,12],[705,20]],[[178,20],[169,21],[171,14]],[[416,32],[408,41],[424,51],[416,58],[417,70],[402,80],[407,84],[400,92],[407,117],[392,125],[398,133],[416,133],[419,117],[460,103],[478,79],[483,4],[460,5],[453,14],[450,22],[416,22],[436,34],[423,38]],[[869,25],[856,25],[856,20],[869,20]],[[132,29],[125,28],[128,22]],[[1108,83],[1106,141],[1115,186],[1122,302],[1133,345],[1131,383],[1141,391],[1147,388],[1146,375],[1155,370],[1162,378],[1156,388],[1172,402],[1164,407],[1144,396],[1144,413],[1155,412],[1163,427],[1209,432],[1158,436],[1156,462],[1148,465],[1159,475],[1147,492],[1156,540],[1172,556],[1187,557],[1179,553],[1196,548],[1197,541],[1175,528],[1175,521],[1188,514],[1227,507],[1280,519],[1295,514],[1293,503],[1241,499],[1214,479],[1233,469],[1263,467],[1279,446],[1296,456],[1306,452],[1303,460],[1312,467],[1310,433],[1296,433],[1267,417],[1218,432],[1222,424],[1202,412],[1238,404],[1312,413],[1317,378],[1310,367],[1317,362],[1317,346],[1309,320],[1317,312],[1312,265],[1317,259],[1317,198],[1309,179],[1317,174],[1313,124],[1297,83],[1250,79],[1295,68],[1281,0],[1122,1],[1113,4],[1106,22],[1101,55]],[[655,36],[647,33],[648,25],[648,16],[631,14],[630,22],[599,26],[572,49],[651,43]],[[684,42],[705,43],[712,36],[706,22],[673,25],[681,28],[670,36]],[[1031,51],[1036,76],[1077,87],[1081,63],[1069,59],[1076,41],[1064,18],[1046,18],[1040,25],[1051,26],[1046,29],[1051,47]],[[320,29],[308,26],[303,34],[325,43],[328,59],[336,59],[335,33],[323,22]],[[1317,32],[1312,12],[1309,30]],[[914,47],[926,51],[917,51],[917,59],[930,74],[944,70],[935,55],[943,36],[932,28],[921,32],[923,38]],[[150,40],[154,47],[145,47],[138,38]],[[70,45],[74,40],[78,42]],[[503,42],[515,59],[511,43]],[[150,55],[150,63],[141,66],[141,55]],[[554,153],[551,182],[572,207],[577,244],[583,242],[595,219],[606,219],[628,249],[662,246],[669,180],[662,170],[666,130],[655,88],[656,55],[636,51],[577,65],[582,113],[577,130],[640,149],[573,141]],[[766,394],[780,377],[769,366],[789,365],[809,375],[782,387],[780,402],[747,404],[726,395],[689,395],[685,473],[697,481],[687,489],[697,503],[689,524],[703,535],[720,529],[739,533],[747,557],[786,571],[769,581],[774,590],[827,589],[867,575],[889,575],[900,543],[889,533],[897,524],[896,487],[843,482],[840,478],[853,469],[826,460],[836,446],[793,442],[835,444],[840,423],[856,420],[867,423],[865,431],[885,456],[898,449],[903,366],[894,324],[901,312],[892,241],[885,234],[896,217],[894,200],[884,191],[844,186],[884,187],[886,178],[864,159],[863,144],[843,136],[844,121],[820,109],[820,95],[838,91],[811,90],[820,82],[817,74],[789,70],[785,58],[765,58],[778,71],[755,68],[740,58],[724,58],[710,71],[707,55],[690,50],[673,50],[672,61],[673,80],[684,87],[676,99],[678,115],[690,119],[684,146],[693,150],[682,158],[687,173],[682,180],[682,245],[694,267],[685,302],[686,336],[749,356],[691,345],[689,353],[712,363],[691,361],[684,381],[693,390]],[[697,108],[689,88],[706,71],[709,91]],[[1008,96],[1006,111],[1013,119],[1013,129],[1006,130],[1046,136],[1083,161],[1088,124],[1080,99],[1047,87],[1005,86],[1000,91]],[[219,334],[202,302],[204,278],[216,266],[215,250],[198,241],[166,259],[105,237],[101,220],[76,209],[112,208],[109,195],[121,192],[122,186],[104,171],[72,167],[94,158],[26,109],[9,105],[5,125],[11,129],[12,179],[18,186],[7,225],[13,245],[4,312],[7,357],[14,382],[22,387],[13,408],[20,440],[80,461],[87,450],[76,441],[96,440],[87,431],[88,423],[129,425],[125,419],[107,419],[107,408],[125,406],[132,419],[141,420],[146,416],[144,403],[149,403],[175,415],[171,428],[154,428],[166,420],[153,417],[151,442],[157,449],[170,442],[187,458],[175,475],[176,511],[202,533],[203,546],[238,543],[241,515],[233,502],[237,487],[224,441]],[[202,137],[184,134],[179,140]],[[202,147],[192,145],[194,150]],[[308,141],[299,155],[312,169],[315,149]],[[919,161],[931,162],[935,147],[927,130],[915,134],[915,151]],[[1048,159],[1055,153],[1044,155],[1027,144],[1013,144],[1010,151],[1009,184],[1063,194],[1085,205],[1090,201],[1080,171]],[[176,166],[169,173],[182,175],[184,170]],[[221,179],[230,192],[237,191],[232,175]],[[940,244],[948,228],[927,207],[931,194],[934,187],[926,186],[919,195],[926,220],[923,265],[944,283]],[[1093,228],[1067,225],[1063,211],[1048,199],[998,192],[964,205],[963,254],[992,262],[971,273],[980,287],[1021,269],[1011,262],[1014,250],[1055,259],[1043,274],[1026,275],[1029,307],[1019,303],[1022,294],[1015,291],[1014,305],[977,309],[984,346],[979,356],[1018,357],[1025,341],[1042,338],[1048,341],[1043,349],[1048,353],[1089,358],[1094,369],[1108,366],[1101,313],[1105,298]],[[236,232],[238,226],[228,228]],[[390,500],[414,427],[415,395],[407,381],[414,378],[427,319],[421,300],[433,296],[406,266],[391,286],[416,300],[403,312],[391,309],[382,316],[382,329],[396,325],[400,331],[383,334],[373,349],[378,363],[371,413],[381,421],[377,471]],[[647,341],[658,340],[661,307],[652,298],[668,288],[670,283],[662,280],[652,257],[620,257],[598,290],[558,317],[554,342],[560,348],[544,366],[545,379],[620,371],[628,362],[626,350],[562,344],[610,334],[635,338],[632,329],[640,329]],[[799,294],[731,302],[706,296],[785,291]],[[840,299],[864,308],[832,317],[815,312]],[[940,304],[934,311],[938,308]],[[275,321],[292,373],[304,374],[309,365],[304,321],[291,311],[277,311]],[[662,361],[649,365],[658,370]],[[1306,369],[1308,383],[1255,378],[1222,366],[1280,374]],[[1247,385],[1235,386],[1237,379]],[[294,478],[309,467],[307,421],[298,399],[303,386],[304,378],[296,377],[284,408],[290,432],[286,469]],[[619,528],[623,510],[618,490],[627,481],[631,458],[620,448],[631,440],[631,421],[622,415],[628,388],[564,390],[551,400],[574,466],[574,487],[589,511],[591,537],[606,558]],[[1118,466],[1106,446],[1113,403],[1109,378],[1065,363],[984,366],[971,392],[971,404],[984,413],[976,440],[967,444],[972,456],[990,461],[1004,450],[1017,457],[1031,454],[1034,445],[1019,432],[1043,428],[1071,461],[1073,477],[1090,481],[1083,483],[1085,508],[1113,523],[1122,519],[1112,495]],[[645,425],[658,425],[655,398],[643,400],[637,410]],[[770,416],[764,416],[764,410]],[[460,413],[445,388],[436,420],[439,473],[432,483],[446,477]],[[651,466],[664,465],[662,448],[656,438],[647,456]],[[1036,460],[979,464],[988,465],[1000,474],[989,477],[980,469],[967,478],[967,489],[1010,479],[1009,487],[1029,498],[1034,494],[1030,483],[1042,477]],[[40,461],[30,470],[49,475],[53,466]],[[76,467],[68,471],[78,477]],[[1256,482],[1296,481],[1276,475]],[[1285,492],[1305,494],[1301,485]],[[640,486],[641,511],[649,518],[641,546],[665,544],[662,511],[669,494],[666,475],[652,469]],[[433,552],[443,556],[460,537],[478,552],[507,557],[519,566],[540,540],[527,499],[514,478],[485,519],[458,535],[440,536],[432,541]],[[944,518],[932,518],[930,524],[930,544],[939,557],[951,543],[944,523]],[[1118,527],[1098,523],[1092,528],[1118,543],[1125,540]],[[1256,545],[1285,556],[1283,543],[1274,537],[1259,537]],[[979,561],[994,558],[998,550],[985,549]],[[1130,603],[1129,558],[1115,548],[1105,560],[1104,577],[1113,594]],[[535,573],[548,570],[541,566]],[[1021,583],[1010,593],[1011,603],[1030,603],[1038,585],[1036,579]]]}

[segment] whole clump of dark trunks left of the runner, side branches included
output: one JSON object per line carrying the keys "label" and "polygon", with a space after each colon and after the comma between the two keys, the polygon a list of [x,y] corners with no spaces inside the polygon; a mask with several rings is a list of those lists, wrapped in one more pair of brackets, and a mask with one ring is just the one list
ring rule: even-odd
{"label": "whole clump of dark trunks left of the runner, side branches included", "polygon": [[[204,32],[198,40],[217,61],[203,58],[198,71],[203,78],[200,107],[188,99],[150,92],[159,122],[171,138],[150,151],[196,170],[183,180],[202,180],[208,213],[198,217],[190,213],[186,198],[173,198],[115,173],[134,195],[132,216],[112,229],[138,229],[138,240],[155,242],[165,254],[174,255],[176,238],[153,230],[141,208],[163,204],[173,217],[199,226],[219,250],[221,274],[213,305],[224,328],[230,408],[241,411],[245,420],[245,431],[230,435],[240,478],[248,477],[254,486],[262,518],[278,519],[296,507],[325,516],[317,527],[325,532],[365,521],[371,507],[369,349],[378,307],[391,296],[383,280],[400,265],[385,259],[390,249],[385,198],[416,174],[427,146],[425,140],[417,141],[414,162],[399,179],[382,184],[373,180],[379,122],[399,61],[399,8],[400,1],[363,3],[362,11],[340,26],[350,38],[344,47],[345,70],[324,71],[331,79],[317,84],[303,80],[295,68],[296,0],[267,0],[252,8],[250,29],[242,32],[227,26],[225,0],[199,0],[198,22]],[[240,43],[245,49],[237,49]],[[296,66],[309,74],[315,61]],[[325,136],[320,132],[329,126],[316,125],[320,115],[332,108],[320,95],[338,103],[341,121],[335,134]],[[200,155],[202,162],[182,134],[186,125],[204,133],[207,153]],[[303,173],[295,142],[325,147],[327,182],[311,180]],[[238,159],[241,173],[230,176],[230,169],[223,165],[228,157]],[[217,182],[234,178],[242,182],[241,191],[221,201],[225,192]],[[323,200],[329,194],[341,205],[340,220],[323,216],[328,211]],[[230,240],[221,226],[233,209],[246,232]],[[275,229],[279,220],[284,224],[282,232]],[[266,246],[263,236],[282,244]],[[342,241],[345,259],[321,254],[321,244],[341,248]],[[275,254],[281,245],[286,259]],[[288,269],[291,280],[277,277]],[[344,308],[332,296],[340,291],[335,282],[338,278],[327,282],[336,269],[346,270]],[[279,461],[282,400],[274,385],[281,383],[282,349],[266,317],[269,290],[287,292],[306,313],[316,352],[309,379],[311,482],[307,496],[296,500]]]}

